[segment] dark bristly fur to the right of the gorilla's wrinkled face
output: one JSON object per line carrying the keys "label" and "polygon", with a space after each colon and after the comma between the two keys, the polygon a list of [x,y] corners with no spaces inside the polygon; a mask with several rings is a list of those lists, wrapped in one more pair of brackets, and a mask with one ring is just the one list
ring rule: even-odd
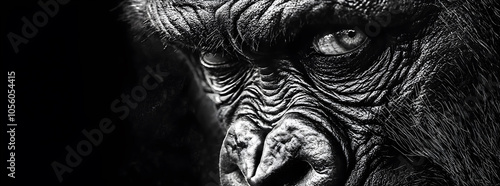
{"label": "dark bristly fur to the right of the gorilla's wrinkled face", "polygon": [[446,7],[441,21],[459,40],[442,43],[451,48],[435,51],[440,71],[415,87],[415,100],[394,100],[383,121],[397,147],[430,159],[457,185],[500,183],[499,7]]}

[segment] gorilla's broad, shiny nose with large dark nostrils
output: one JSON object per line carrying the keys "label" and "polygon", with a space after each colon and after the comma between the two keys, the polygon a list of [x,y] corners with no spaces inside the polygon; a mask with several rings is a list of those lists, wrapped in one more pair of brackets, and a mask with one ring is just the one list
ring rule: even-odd
{"label": "gorilla's broad, shiny nose with large dark nostrils", "polygon": [[298,116],[283,119],[270,132],[250,121],[236,122],[221,149],[222,185],[338,184],[345,157],[318,126]]}

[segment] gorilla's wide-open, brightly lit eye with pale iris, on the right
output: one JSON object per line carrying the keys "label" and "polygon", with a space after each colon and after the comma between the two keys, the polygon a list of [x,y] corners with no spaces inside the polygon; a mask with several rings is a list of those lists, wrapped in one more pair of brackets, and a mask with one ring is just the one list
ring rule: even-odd
{"label": "gorilla's wide-open, brightly lit eye with pale iris, on the right", "polygon": [[324,55],[341,55],[356,50],[367,38],[358,28],[343,29],[319,35],[314,39],[313,46],[316,52]]}

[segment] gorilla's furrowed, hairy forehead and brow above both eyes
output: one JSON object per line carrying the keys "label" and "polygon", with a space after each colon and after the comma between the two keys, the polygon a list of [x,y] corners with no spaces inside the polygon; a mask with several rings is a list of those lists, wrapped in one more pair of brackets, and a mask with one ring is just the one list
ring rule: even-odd
{"label": "gorilla's furrowed, hairy forehead and brow above both eyes", "polygon": [[[429,5],[390,0],[164,0],[142,4],[151,20],[150,26],[160,30],[166,41],[202,49],[231,42],[271,45],[290,40],[307,24],[353,24],[396,9],[409,16],[400,16],[400,20],[412,21]],[[398,23],[398,20],[391,22]]]}

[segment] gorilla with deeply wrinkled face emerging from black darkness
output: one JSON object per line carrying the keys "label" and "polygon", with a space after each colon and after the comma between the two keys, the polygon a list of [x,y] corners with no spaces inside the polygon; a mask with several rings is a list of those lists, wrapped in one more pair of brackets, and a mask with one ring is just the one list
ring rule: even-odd
{"label": "gorilla with deeply wrinkled face emerging from black darkness", "polygon": [[124,7],[217,108],[221,185],[500,184],[499,1]]}

